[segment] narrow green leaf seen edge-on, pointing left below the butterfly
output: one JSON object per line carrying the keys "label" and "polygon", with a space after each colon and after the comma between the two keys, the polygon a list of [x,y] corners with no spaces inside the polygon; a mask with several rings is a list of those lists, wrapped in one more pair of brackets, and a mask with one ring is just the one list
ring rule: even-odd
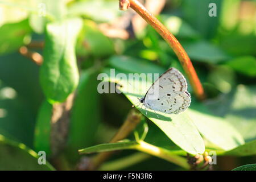
{"label": "narrow green leaf seen edge-on, pointing left below the butterfly", "polygon": [[115,150],[134,149],[135,146],[137,145],[138,145],[137,142],[124,140],[117,143],[98,144],[97,146],[81,149],[79,150],[79,152],[80,154],[90,154],[93,152],[109,152],[109,151],[115,151]]}

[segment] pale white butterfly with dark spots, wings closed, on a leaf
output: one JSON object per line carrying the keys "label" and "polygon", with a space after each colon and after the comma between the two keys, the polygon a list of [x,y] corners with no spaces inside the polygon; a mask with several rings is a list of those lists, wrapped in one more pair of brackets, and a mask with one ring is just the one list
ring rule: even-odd
{"label": "pale white butterfly with dark spots, wings closed, on a leaf", "polygon": [[179,114],[191,103],[187,87],[187,81],[182,73],[170,68],[159,76],[139,101],[154,111]]}

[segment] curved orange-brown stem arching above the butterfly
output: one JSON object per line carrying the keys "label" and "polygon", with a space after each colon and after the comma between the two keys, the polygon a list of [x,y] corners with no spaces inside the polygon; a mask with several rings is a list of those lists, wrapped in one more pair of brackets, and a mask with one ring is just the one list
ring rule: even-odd
{"label": "curved orange-brown stem arching above the butterfly", "polygon": [[159,22],[158,19],[155,18],[154,15],[146,10],[140,2],[138,2],[137,0],[129,0],[129,2],[131,9],[141,15],[142,18],[146,20],[146,22],[150,24],[174,50],[184,71],[187,73],[189,82],[193,88],[193,91],[196,94],[196,97],[199,98],[199,100],[203,100],[205,98],[203,86],[196,74],[191,60],[189,59],[187,53],[185,52],[179,41],[175,38],[174,35],[171,34],[170,31],[167,30],[166,27],[164,27],[161,22]]}

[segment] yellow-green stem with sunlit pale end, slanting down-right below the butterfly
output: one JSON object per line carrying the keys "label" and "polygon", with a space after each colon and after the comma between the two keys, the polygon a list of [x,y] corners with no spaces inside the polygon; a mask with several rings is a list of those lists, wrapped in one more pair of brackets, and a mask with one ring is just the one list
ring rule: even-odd
{"label": "yellow-green stem with sunlit pale end, slanting down-right below the butterfly", "polygon": [[177,164],[178,166],[181,166],[185,169],[190,168],[189,164],[187,163],[187,159],[185,159],[181,156],[178,156],[178,155],[174,155],[174,154],[172,154],[172,152],[170,152],[164,148],[153,146],[152,144],[149,144],[142,140],[139,141],[139,144],[135,147],[135,149],[137,149],[141,152],[145,152],[150,155],[157,156],[158,158],[165,159],[165,160],[167,160],[171,163]]}

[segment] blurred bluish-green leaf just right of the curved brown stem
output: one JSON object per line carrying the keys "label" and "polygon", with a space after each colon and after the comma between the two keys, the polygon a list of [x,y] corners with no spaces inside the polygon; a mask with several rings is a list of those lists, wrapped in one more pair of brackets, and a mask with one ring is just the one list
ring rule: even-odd
{"label": "blurred bluish-green leaf just right of the curved brown stem", "polygon": [[222,49],[209,42],[200,41],[187,43],[183,46],[185,51],[187,51],[188,56],[195,61],[217,64],[221,61],[230,59],[230,56],[222,51]]}

